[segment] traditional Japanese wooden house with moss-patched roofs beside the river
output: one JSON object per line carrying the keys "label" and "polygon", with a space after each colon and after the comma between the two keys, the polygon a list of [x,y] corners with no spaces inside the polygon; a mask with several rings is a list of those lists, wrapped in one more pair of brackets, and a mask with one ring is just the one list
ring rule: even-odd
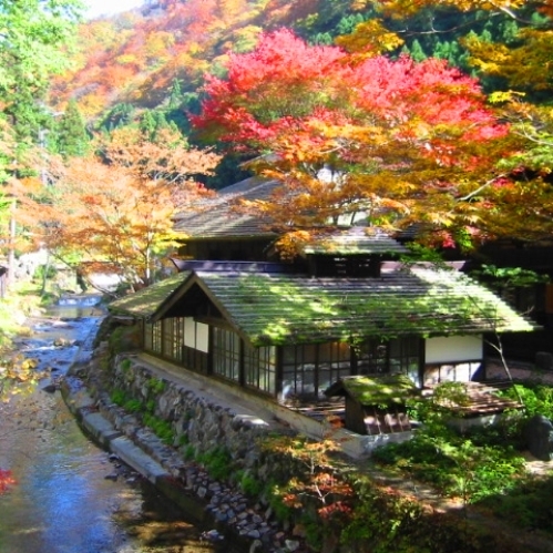
{"label": "traditional Japanese wooden house with moss-patched roofs beside the river", "polygon": [[295,263],[266,260],[275,233],[232,205],[269,190],[248,180],[177,218],[178,273],[110,305],[140,321],[144,351],[297,406],[355,375],[470,381],[482,376],[484,336],[534,329],[459,264],[400,263],[404,247],[378,231],[339,229]]}

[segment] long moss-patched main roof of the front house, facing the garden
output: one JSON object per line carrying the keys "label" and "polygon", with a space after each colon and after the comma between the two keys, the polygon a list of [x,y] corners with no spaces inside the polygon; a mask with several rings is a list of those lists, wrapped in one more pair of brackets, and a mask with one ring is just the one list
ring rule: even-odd
{"label": "long moss-patched main roof of the front house, facing the garden", "polygon": [[[254,346],[534,329],[490,290],[452,269],[385,267],[378,278],[196,272],[172,290],[165,299],[155,294],[161,300],[153,313],[154,300],[144,299],[145,316],[193,316],[191,306],[197,307],[201,293]],[[136,315],[136,306],[131,307]],[[124,308],[121,300],[116,308]]]}

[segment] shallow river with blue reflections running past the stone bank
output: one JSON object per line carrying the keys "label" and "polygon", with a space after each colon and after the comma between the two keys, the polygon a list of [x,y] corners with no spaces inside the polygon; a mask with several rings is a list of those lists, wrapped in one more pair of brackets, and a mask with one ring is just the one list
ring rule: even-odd
{"label": "shallow river with blue reflections running past the stone bank", "polygon": [[[202,540],[192,514],[92,443],[48,385],[91,354],[102,313],[73,298],[35,319],[18,340],[51,369],[32,392],[0,403],[0,469],[16,483],[0,495],[1,553],[196,553],[228,551]],[[78,300],[79,299],[79,300]]]}

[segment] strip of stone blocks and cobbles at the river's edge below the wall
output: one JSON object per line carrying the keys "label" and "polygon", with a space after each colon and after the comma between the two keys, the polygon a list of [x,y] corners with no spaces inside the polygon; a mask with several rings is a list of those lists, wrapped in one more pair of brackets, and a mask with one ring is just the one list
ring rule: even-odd
{"label": "strip of stone blocks and cobbles at the river's edge below the wall", "polygon": [[281,528],[267,504],[213,479],[198,463],[186,461],[174,448],[164,444],[136,416],[110,401],[100,386],[105,348],[104,344],[88,362],[74,365],[61,386],[69,409],[89,436],[177,506],[186,512],[192,508],[204,524],[211,521],[213,529],[205,533],[206,540],[231,540],[240,551],[250,553],[308,551],[301,528]]}

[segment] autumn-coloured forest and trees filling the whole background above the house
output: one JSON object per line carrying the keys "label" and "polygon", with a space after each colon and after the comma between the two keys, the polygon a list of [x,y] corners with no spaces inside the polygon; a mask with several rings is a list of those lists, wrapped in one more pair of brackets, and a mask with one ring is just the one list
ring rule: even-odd
{"label": "autumn-coloured forest and trees filling the whole background above the house", "polygon": [[34,10],[59,28],[31,3],[0,1],[30,39],[0,44],[11,254],[45,244],[147,283],[171,214],[249,172],[296,198],[245,206],[281,222],[284,248],[360,212],[440,246],[551,237],[552,0],[149,0],[79,24],[75,0]]}

